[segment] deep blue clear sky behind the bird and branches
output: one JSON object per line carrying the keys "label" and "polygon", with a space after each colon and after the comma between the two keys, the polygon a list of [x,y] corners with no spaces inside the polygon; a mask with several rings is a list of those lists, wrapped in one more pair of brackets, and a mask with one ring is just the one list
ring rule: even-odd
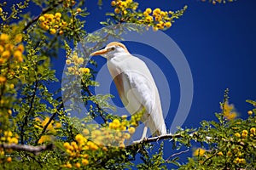
{"label": "deep blue clear sky behind the bird and branches", "polygon": [[[183,16],[165,31],[183,51],[194,82],[193,102],[183,127],[198,127],[202,120],[215,119],[214,113],[220,111],[219,102],[223,100],[225,88],[230,88],[230,103],[235,105],[240,117],[246,118],[247,111],[252,106],[245,100],[256,98],[256,1],[237,0],[235,3],[215,6],[197,0],[137,2],[142,10],[148,7],[177,10],[184,5],[189,6]],[[99,22],[106,20],[105,13],[113,8],[104,1],[102,8],[98,8],[96,1],[86,1],[86,4],[90,15],[85,18],[84,28],[88,32],[101,29]],[[38,14],[33,8],[29,10],[32,14]],[[156,50],[134,42],[124,43],[131,53],[146,56],[154,60],[160,68],[168,70],[168,65],[166,66],[165,60]],[[99,67],[106,62],[102,58],[97,58],[96,61]],[[53,60],[53,67],[59,78],[64,65],[64,56]],[[172,65],[169,66],[167,77],[172,103],[168,113],[171,116],[166,118],[167,127],[172,123],[172,114],[177,111],[180,98],[176,71]],[[114,89],[113,87],[111,92],[117,95]],[[119,105],[118,99],[114,102]],[[170,150],[168,147],[165,149],[165,157],[172,154]]]}

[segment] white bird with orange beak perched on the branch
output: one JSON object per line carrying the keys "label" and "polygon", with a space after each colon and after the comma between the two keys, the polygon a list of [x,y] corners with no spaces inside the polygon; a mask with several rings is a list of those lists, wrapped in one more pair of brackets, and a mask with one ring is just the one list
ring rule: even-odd
{"label": "white bird with orange beak perched on the branch", "polygon": [[110,42],[106,48],[90,54],[93,55],[107,59],[108,71],[126,110],[134,114],[145,108],[142,139],[146,138],[148,127],[152,136],[166,134],[158,89],[143,60],[131,55],[120,42]]}

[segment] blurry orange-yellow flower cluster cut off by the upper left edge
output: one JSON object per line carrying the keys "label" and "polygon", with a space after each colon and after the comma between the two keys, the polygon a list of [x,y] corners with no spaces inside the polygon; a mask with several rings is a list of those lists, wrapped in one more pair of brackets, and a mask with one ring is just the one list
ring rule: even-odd
{"label": "blurry orange-yellow flower cluster cut off by the upper left edge", "polygon": [[21,41],[21,34],[16,34],[15,37],[10,37],[5,33],[0,35],[0,65],[11,59],[11,56],[18,62],[23,61],[24,46],[20,43]]}

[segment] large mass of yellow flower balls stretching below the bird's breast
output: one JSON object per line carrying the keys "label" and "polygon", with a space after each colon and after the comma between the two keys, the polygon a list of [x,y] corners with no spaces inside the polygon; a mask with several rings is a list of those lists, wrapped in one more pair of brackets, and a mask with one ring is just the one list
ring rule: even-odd
{"label": "large mass of yellow flower balls stretching below the bird's breast", "polygon": [[124,148],[125,140],[130,139],[131,134],[135,133],[143,112],[144,110],[131,116],[129,121],[127,116],[122,116],[121,119],[115,118],[113,122],[108,122],[106,127],[94,125],[84,128],[83,133],[75,136],[75,141],[63,144],[68,154],[68,161],[63,167],[86,166],[90,163],[89,155],[93,153],[108,151],[109,147]]}

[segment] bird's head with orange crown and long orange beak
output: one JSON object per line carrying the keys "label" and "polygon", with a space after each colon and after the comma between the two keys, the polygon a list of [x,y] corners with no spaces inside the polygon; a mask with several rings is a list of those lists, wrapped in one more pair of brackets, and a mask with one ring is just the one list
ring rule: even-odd
{"label": "bird's head with orange crown and long orange beak", "polygon": [[110,42],[110,43],[108,43],[106,48],[98,50],[98,51],[90,54],[90,56],[102,55],[102,57],[110,59],[116,55],[125,55],[125,54],[130,54],[130,53],[123,43]]}

